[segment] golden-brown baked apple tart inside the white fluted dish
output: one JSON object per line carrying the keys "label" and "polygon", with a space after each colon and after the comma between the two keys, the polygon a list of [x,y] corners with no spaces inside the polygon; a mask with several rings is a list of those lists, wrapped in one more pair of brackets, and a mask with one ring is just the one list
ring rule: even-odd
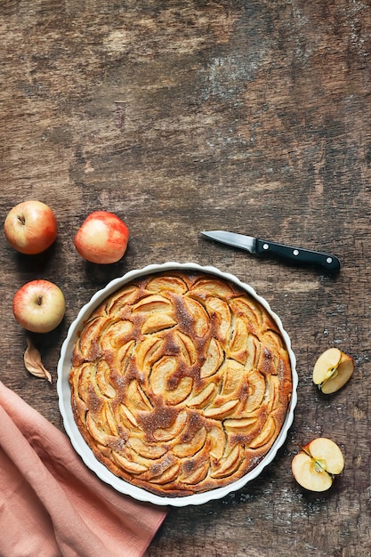
{"label": "golden-brown baked apple tart inside the white fluted dish", "polygon": [[160,496],[252,470],[292,392],[286,345],[262,305],[222,278],[175,270],[133,281],[93,311],[69,383],[97,459]]}

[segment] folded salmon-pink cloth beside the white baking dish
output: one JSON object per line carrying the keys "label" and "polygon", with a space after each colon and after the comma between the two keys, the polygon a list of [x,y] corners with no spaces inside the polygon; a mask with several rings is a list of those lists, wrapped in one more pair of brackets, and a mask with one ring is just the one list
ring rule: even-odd
{"label": "folded salmon-pink cloth beside the white baking dish", "polygon": [[166,508],[117,493],[0,382],[0,555],[138,557]]}

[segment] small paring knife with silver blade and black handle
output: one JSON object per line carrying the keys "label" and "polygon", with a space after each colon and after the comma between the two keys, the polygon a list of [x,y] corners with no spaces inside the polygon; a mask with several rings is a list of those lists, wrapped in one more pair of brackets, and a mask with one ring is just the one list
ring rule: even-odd
{"label": "small paring knife with silver blade and black handle", "polygon": [[278,257],[286,259],[287,262],[316,265],[331,271],[340,270],[341,267],[340,261],[332,254],[302,249],[302,247],[286,246],[285,244],[270,242],[270,240],[262,240],[261,238],[253,238],[252,236],[235,234],[225,230],[209,230],[203,231],[201,234],[222,242],[222,244],[246,249],[246,251],[255,255]]}

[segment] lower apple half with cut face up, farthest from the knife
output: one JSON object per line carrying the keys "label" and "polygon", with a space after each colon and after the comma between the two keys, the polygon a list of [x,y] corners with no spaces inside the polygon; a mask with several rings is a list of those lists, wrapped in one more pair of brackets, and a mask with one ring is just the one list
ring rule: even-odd
{"label": "lower apple half with cut face up, farthest from the knife", "polygon": [[335,475],[343,472],[343,453],[333,440],[319,437],[301,448],[291,467],[294,479],[302,488],[326,491],[331,488]]}

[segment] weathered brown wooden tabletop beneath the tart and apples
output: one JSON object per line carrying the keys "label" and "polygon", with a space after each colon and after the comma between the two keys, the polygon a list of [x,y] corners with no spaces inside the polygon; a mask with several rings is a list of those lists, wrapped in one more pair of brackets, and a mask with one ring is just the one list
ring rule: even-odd
{"label": "weathered brown wooden tabletop beneath the tart and apples", "polygon": [[[151,262],[198,262],[252,285],[292,338],[298,404],[284,447],[254,482],[170,508],[148,557],[371,554],[368,416],[371,292],[371,12],[359,0],[3,0],[1,200],[52,206],[59,237],[16,254],[0,238],[0,380],[62,428],[60,345],[111,278]],[[88,264],[73,238],[107,209],[131,231],[122,261]],[[234,230],[337,254],[336,277],[260,260],[200,238]],[[34,337],[52,385],[23,367],[12,296],[33,278],[64,291],[66,318]],[[319,353],[355,360],[321,396]],[[298,443],[326,435],[345,456],[323,494],[293,479]]]}

